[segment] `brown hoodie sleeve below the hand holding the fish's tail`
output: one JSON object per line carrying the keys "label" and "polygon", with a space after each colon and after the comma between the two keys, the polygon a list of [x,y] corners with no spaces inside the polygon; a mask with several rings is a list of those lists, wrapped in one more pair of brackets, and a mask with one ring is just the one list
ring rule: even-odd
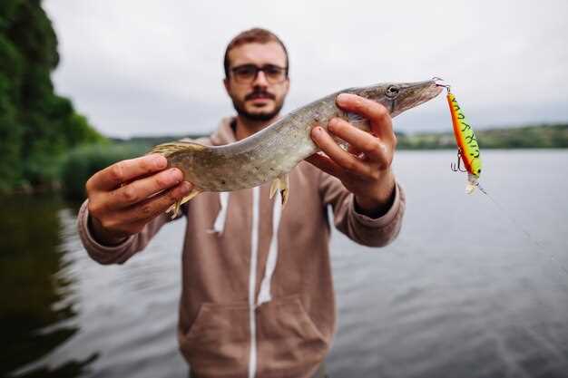
{"label": "brown hoodie sleeve below the hand holding the fish's tail", "polygon": [[123,264],[136,252],[142,251],[160,228],[169,221],[166,214],[154,218],[138,234],[127,237],[122,243],[115,246],[104,246],[97,242],[89,230],[88,199],[83,202],[77,216],[77,228],[83,247],[93,260],[103,265]]}

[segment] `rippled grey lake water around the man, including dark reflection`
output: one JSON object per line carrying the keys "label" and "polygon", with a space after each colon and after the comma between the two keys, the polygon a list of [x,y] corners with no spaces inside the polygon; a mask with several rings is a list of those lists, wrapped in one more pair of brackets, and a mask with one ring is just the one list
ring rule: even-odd
{"label": "rippled grey lake water around the man, including dark reflection", "polygon": [[[338,377],[568,377],[568,150],[489,150],[465,195],[455,151],[401,151],[392,245],[334,232]],[[293,194],[292,194],[293,195]],[[0,376],[186,377],[183,221],[121,267],[83,251],[76,208],[0,200]]]}

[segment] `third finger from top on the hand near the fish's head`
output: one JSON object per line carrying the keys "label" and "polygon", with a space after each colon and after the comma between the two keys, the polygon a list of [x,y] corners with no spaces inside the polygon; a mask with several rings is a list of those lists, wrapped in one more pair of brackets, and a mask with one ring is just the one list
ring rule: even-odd
{"label": "third finger from top on the hand near the fish's head", "polygon": [[[328,155],[340,168],[361,176],[376,176],[377,166],[366,163],[341,149],[333,138],[323,128],[317,126],[311,131],[312,140]],[[318,159],[318,158],[315,158]],[[319,160],[321,162],[321,160]],[[336,175],[334,175],[336,176]]]}

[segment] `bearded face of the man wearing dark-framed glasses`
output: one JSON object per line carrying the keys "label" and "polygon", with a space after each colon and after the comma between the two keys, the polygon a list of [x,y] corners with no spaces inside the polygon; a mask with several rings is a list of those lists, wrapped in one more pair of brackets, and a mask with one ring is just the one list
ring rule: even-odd
{"label": "bearded face of the man wearing dark-framed glasses", "polygon": [[[224,81],[235,110],[252,121],[269,121],[282,109],[289,91],[289,78],[275,82],[275,73],[260,71],[249,81],[240,80],[233,69],[240,67],[286,68],[286,53],[276,42],[242,44],[229,52],[229,78]],[[269,76],[272,76],[269,77]]]}

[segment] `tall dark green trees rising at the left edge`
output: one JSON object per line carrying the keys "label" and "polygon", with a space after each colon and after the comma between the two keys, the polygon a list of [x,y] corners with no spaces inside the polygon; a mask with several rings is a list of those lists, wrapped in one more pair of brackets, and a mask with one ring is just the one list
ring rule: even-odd
{"label": "tall dark green trees rising at the left edge", "polygon": [[64,152],[105,139],[54,93],[57,37],[39,0],[0,2],[0,193],[52,186]]}

